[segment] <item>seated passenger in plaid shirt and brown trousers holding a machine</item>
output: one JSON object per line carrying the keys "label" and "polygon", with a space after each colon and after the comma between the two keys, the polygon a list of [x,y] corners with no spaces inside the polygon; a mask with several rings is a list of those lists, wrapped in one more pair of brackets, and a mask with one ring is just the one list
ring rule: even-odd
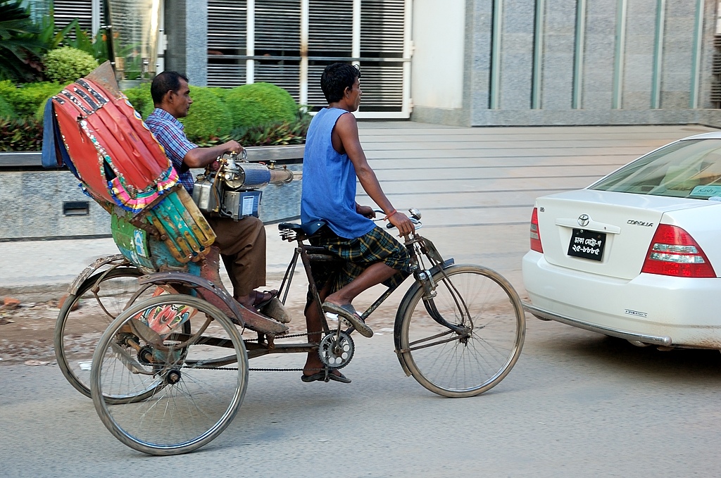
{"label": "seated passenger in plaid shirt and brown trousers holding a machine", "polygon": [[[185,118],[193,99],[186,76],[177,71],[163,71],[151,84],[155,110],[146,125],[163,145],[187,192],[193,193],[193,174],[190,168],[203,168],[216,161],[226,151],[239,152],[243,147],[228,141],[210,148],[200,148],[188,141],[183,125],[177,118]],[[233,283],[236,301],[254,310],[273,297],[270,292],[255,291],[265,286],[265,228],[253,216],[234,221],[232,218],[205,216],[216,233],[216,243]]]}

